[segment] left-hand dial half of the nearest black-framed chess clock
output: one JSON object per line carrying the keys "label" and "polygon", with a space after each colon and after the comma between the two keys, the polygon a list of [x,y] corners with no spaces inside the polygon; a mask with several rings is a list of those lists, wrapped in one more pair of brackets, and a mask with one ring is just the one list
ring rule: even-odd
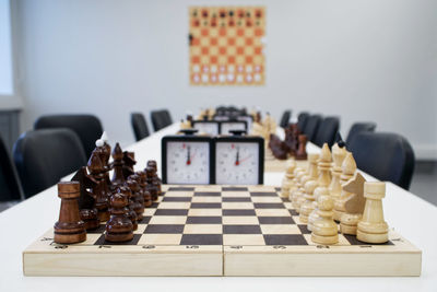
{"label": "left-hand dial half of the nearest black-framed chess clock", "polygon": [[212,138],[166,136],[162,140],[164,184],[214,184]]}

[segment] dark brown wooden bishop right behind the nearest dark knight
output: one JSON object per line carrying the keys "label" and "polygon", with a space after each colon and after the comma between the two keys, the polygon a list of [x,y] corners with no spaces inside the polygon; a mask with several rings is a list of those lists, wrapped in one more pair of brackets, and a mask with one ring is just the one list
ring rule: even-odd
{"label": "dark brown wooden bishop right behind the nearest dark knight", "polygon": [[105,170],[98,152],[93,151],[87,168],[90,175],[97,182],[97,184],[92,187],[92,194],[95,199],[95,208],[97,208],[98,211],[98,219],[101,222],[107,221],[109,219],[108,207],[110,191],[105,180]]}

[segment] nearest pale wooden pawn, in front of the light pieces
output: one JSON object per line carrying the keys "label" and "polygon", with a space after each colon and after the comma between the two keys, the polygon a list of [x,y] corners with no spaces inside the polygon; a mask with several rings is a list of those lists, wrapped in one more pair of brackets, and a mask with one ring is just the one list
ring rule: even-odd
{"label": "nearest pale wooden pawn, in front of the light pieces", "polygon": [[317,244],[331,245],[339,242],[339,230],[332,219],[334,202],[329,195],[317,199],[319,218],[314,222],[311,241]]}

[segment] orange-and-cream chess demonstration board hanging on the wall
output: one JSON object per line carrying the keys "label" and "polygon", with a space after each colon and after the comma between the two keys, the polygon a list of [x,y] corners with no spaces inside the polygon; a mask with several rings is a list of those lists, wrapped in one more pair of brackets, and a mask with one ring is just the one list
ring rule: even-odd
{"label": "orange-and-cream chess demonstration board hanging on the wall", "polygon": [[263,7],[189,9],[190,84],[262,85]]}

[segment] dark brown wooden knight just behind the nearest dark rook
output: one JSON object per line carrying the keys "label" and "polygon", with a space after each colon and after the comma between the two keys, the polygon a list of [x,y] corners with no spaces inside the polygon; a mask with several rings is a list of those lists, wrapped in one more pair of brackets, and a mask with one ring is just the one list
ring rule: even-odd
{"label": "dark brown wooden knight just behind the nearest dark rook", "polygon": [[88,189],[96,187],[97,182],[87,174],[85,166],[79,168],[71,182],[78,182],[80,185],[79,212],[81,220],[85,223],[85,229],[97,229],[101,225],[101,220],[98,220],[98,212],[95,208],[95,198],[88,191]]}

